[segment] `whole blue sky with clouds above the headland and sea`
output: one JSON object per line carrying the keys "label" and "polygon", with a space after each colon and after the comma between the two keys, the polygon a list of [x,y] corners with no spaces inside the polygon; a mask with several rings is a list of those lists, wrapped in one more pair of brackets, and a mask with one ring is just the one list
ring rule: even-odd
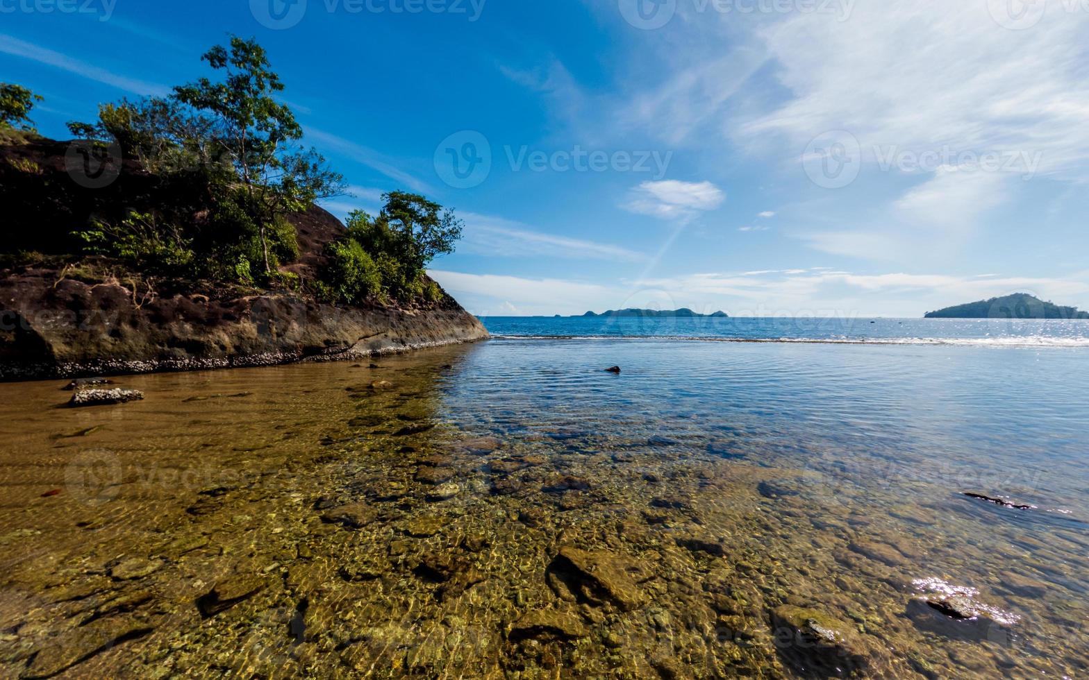
{"label": "whole blue sky with clouds above the headland and sea", "polygon": [[65,136],[254,36],[327,207],[456,208],[480,314],[1089,308],[1089,3],[1018,3],[0,0],[0,81]]}

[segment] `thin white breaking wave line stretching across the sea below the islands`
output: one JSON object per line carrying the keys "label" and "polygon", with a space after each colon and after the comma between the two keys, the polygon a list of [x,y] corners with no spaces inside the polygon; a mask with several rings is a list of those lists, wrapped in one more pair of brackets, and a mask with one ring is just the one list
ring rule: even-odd
{"label": "thin white breaking wave line stretching across the sea below the islands", "polygon": [[668,341],[686,343],[794,343],[811,345],[952,345],[963,347],[1089,347],[1089,337],[698,337],[688,335],[492,335],[498,341]]}

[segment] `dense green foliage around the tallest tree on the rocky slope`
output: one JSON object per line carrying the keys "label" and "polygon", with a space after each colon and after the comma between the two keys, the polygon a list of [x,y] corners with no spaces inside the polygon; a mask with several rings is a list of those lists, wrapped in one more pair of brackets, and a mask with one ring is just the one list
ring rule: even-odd
{"label": "dense green foliage around the tallest tree on the rocky slope", "polygon": [[194,275],[283,285],[278,268],[299,257],[287,215],[342,193],[343,177],[297,146],[302,128],[274,98],[283,84],[257,42],[232,37],[203,59],[220,79],[102,104],[96,123],[72,122],[69,129],[115,143],[126,158],[184,187],[195,207],[207,206],[195,220],[174,217],[198,254]]}

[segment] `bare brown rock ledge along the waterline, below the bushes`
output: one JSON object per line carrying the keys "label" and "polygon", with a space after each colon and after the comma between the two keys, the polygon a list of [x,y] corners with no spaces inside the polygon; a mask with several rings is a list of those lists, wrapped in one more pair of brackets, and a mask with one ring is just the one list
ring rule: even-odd
{"label": "bare brown rock ledge along the waterline, below the bushes", "polygon": [[235,299],[87,283],[50,269],[0,280],[0,380],[357,359],[488,336],[452,299],[356,309],[292,293]]}

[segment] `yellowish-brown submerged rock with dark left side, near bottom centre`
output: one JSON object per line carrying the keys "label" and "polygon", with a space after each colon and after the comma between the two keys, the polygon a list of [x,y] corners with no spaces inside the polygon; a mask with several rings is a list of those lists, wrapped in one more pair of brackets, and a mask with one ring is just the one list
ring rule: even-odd
{"label": "yellowish-brown submerged rock with dark left side, near bottom centre", "polygon": [[563,546],[549,565],[549,573],[552,577],[549,584],[561,597],[566,594],[595,606],[612,604],[625,611],[646,602],[637,582],[649,574],[643,567],[608,551]]}

